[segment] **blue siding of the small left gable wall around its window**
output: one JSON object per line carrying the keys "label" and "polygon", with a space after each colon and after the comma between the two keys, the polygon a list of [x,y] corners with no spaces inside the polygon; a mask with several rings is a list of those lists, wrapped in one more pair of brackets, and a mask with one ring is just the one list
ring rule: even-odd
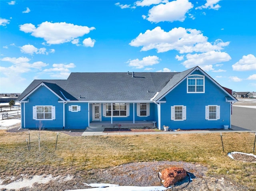
{"label": "blue siding of the small left gable wall around its window", "polygon": [[[51,105],[55,106],[55,120],[42,120],[43,127],[63,128],[63,103],[58,103],[58,97],[54,95],[46,87],[41,86],[34,91],[29,97],[29,102],[25,103],[25,128],[38,128],[39,120],[33,120],[33,106],[36,105]],[[22,104],[22,128],[24,128],[24,108]]]}

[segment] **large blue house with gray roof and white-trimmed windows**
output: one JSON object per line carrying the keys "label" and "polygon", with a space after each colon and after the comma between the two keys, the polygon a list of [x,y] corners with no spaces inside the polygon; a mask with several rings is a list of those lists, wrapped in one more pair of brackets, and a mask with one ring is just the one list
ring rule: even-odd
{"label": "large blue house with gray roof and white-trimmed windows", "polygon": [[18,97],[21,127],[84,129],[94,122],[156,121],[172,129],[230,125],[228,91],[200,67],[183,72],[71,73],[67,80],[34,80]]}

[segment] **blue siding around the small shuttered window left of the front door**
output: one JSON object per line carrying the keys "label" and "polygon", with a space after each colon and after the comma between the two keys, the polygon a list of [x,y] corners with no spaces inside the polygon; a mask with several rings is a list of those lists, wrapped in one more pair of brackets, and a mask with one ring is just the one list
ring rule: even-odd
{"label": "blue siding around the small shuttered window left of the front door", "polygon": [[[79,105],[81,110],[78,112],[68,111],[68,106]],[[87,102],[68,102],[65,104],[65,129],[85,129],[88,126],[88,103]]]}

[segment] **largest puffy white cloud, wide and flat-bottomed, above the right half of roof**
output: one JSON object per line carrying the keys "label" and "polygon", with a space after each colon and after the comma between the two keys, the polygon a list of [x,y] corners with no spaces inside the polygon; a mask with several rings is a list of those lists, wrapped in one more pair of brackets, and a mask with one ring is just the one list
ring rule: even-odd
{"label": "largest puffy white cloud, wide and flat-bottomed, above the right half of roof", "polygon": [[208,37],[204,36],[200,30],[185,29],[182,27],[173,28],[165,32],[159,26],[153,30],[146,30],[133,39],[131,46],[142,46],[141,51],[157,49],[157,52],[166,52],[177,50],[180,53],[220,51],[223,47],[229,45],[229,42],[223,42],[217,39],[213,43],[208,42]]}

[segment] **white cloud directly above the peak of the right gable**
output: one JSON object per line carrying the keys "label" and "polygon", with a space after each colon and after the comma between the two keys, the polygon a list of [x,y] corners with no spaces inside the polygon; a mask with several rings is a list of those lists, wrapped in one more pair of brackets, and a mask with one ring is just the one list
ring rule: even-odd
{"label": "white cloud directly above the peak of the right gable", "polygon": [[201,54],[187,54],[187,60],[182,62],[186,68],[200,66],[205,71],[214,70],[212,65],[215,63],[229,61],[230,55],[226,52],[209,51]]}

